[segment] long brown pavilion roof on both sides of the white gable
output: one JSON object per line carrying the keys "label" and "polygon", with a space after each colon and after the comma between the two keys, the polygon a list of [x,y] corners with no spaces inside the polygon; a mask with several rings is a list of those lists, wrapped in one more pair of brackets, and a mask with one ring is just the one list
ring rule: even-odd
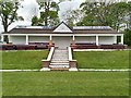
{"label": "long brown pavilion roof on both sides of the white gable", "polygon": [[[115,29],[72,29],[73,34],[118,34]],[[13,28],[4,34],[63,34],[55,33],[53,28]],[[71,34],[71,33],[64,33]]]}

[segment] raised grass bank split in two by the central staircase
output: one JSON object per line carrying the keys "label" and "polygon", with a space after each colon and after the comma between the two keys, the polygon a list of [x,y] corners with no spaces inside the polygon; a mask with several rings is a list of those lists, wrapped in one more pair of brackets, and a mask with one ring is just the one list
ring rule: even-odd
{"label": "raised grass bank split in two by the central staircase", "polygon": [[[2,69],[40,69],[41,59],[46,59],[47,50],[43,51],[9,51],[2,52]],[[73,52],[78,68],[82,69],[128,69],[129,51],[85,51]]]}

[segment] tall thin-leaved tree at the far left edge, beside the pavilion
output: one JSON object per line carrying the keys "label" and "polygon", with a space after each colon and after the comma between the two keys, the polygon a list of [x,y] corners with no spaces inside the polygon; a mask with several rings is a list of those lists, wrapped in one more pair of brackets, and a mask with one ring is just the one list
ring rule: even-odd
{"label": "tall thin-leaved tree at the far left edge, beside the pavilion", "polygon": [[[15,20],[17,20],[17,9],[20,3],[13,1],[0,0],[0,17],[4,33],[8,32],[9,25],[11,25]],[[8,36],[4,37],[4,41],[9,42]]]}

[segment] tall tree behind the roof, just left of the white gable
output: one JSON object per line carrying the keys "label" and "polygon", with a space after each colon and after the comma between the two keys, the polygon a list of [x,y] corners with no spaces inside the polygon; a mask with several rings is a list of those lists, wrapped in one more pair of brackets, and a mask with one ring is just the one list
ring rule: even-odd
{"label": "tall tree behind the roof, just left of the white gable", "polygon": [[[45,26],[55,25],[58,23],[58,11],[59,5],[51,0],[46,0],[45,2],[39,2],[40,5],[40,20],[44,21]],[[52,24],[52,21],[56,22]]]}

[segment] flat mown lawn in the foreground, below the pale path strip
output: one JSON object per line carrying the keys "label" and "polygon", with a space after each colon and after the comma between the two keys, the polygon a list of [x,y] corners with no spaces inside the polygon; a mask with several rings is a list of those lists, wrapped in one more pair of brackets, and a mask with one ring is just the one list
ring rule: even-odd
{"label": "flat mown lawn in the foreground, below the pale path strip", "polygon": [[128,72],[2,73],[3,96],[128,96]]}

